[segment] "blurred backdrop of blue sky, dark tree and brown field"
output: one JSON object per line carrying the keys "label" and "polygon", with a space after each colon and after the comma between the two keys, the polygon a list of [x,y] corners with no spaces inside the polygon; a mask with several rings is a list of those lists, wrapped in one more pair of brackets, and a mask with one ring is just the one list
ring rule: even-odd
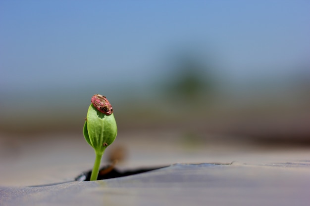
{"label": "blurred backdrop of blue sky, dark tree and brown field", "polygon": [[169,131],[161,144],[310,146],[309,11],[308,0],[0,1],[2,156],[31,139],[84,141],[97,93],[118,142]]}

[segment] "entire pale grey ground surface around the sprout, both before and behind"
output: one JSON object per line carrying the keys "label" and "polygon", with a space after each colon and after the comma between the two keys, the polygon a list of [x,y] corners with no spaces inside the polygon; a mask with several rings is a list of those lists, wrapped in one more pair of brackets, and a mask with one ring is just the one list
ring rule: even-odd
{"label": "entire pale grey ground surface around the sprout, both before and behind", "polygon": [[[94,152],[82,134],[38,135],[31,142],[2,134],[0,206],[310,205],[308,148],[202,140],[189,144],[180,135],[119,133],[105,154],[119,145],[126,148],[127,160],[119,169],[171,166],[96,182],[61,183],[92,168]],[[33,185],[38,186],[29,187]]]}

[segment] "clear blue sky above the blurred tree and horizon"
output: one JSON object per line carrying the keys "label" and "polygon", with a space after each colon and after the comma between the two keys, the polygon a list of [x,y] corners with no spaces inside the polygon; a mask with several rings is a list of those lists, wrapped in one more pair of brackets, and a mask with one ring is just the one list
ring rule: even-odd
{"label": "clear blue sky above the blurred tree and horizon", "polygon": [[148,88],[179,48],[231,82],[289,76],[309,63],[309,11],[308,0],[0,1],[0,92]]}

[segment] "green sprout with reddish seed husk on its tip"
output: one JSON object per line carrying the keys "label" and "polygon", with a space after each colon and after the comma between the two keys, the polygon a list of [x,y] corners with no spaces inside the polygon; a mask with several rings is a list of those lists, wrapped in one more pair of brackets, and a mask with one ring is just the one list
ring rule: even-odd
{"label": "green sprout with reddish seed husk on its tip", "polygon": [[99,167],[104,150],[112,144],[117,135],[117,126],[113,109],[105,96],[95,94],[88,108],[87,118],[83,128],[85,140],[96,153],[95,164],[91,174],[91,181],[97,180]]}

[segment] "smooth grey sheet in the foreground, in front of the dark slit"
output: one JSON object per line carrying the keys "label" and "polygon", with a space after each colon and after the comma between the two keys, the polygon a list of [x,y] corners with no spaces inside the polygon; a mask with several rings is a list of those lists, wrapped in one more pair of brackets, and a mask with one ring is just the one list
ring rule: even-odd
{"label": "smooth grey sheet in the foreground, in front of the dark slit", "polygon": [[309,206],[310,162],[175,164],[127,177],[0,187],[1,206]]}

